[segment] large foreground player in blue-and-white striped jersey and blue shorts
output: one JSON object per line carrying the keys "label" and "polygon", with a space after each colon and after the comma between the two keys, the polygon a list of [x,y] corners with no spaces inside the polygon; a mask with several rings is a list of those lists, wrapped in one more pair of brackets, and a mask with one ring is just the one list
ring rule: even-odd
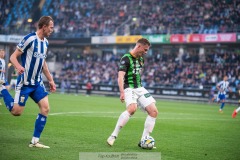
{"label": "large foreground player in blue-and-white striped jersey and blue shorts", "polygon": [[[46,37],[50,36],[53,28],[54,22],[50,16],[41,17],[38,21],[37,31],[25,36],[11,55],[10,61],[18,72],[14,99],[5,89],[4,84],[0,89],[7,109],[14,116],[21,115],[29,96],[38,104],[40,112],[35,121],[35,129],[29,147],[50,148],[39,143],[39,139],[49,112],[48,92],[42,81],[42,73],[49,81],[50,92],[56,91],[56,85],[45,61],[48,48]],[[18,57],[21,57],[21,64]]]}

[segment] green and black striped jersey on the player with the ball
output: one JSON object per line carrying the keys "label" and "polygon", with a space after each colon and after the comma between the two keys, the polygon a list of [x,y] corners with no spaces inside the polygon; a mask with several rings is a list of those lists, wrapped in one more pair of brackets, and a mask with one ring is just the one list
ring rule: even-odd
{"label": "green and black striped jersey on the player with the ball", "polygon": [[134,58],[130,53],[124,54],[120,60],[118,71],[126,72],[124,76],[125,88],[142,87],[140,72],[143,68],[144,60],[142,57]]}

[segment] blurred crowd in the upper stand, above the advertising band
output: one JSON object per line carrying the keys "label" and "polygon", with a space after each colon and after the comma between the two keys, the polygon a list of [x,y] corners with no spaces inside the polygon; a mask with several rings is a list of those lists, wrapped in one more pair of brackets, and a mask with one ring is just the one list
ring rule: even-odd
{"label": "blurred crowd in the upper stand, above the advertising band", "polygon": [[[227,33],[240,30],[240,0],[2,0],[0,32],[35,31],[51,15],[55,37]],[[38,4],[39,3],[39,4]],[[28,21],[33,18],[33,21]]]}

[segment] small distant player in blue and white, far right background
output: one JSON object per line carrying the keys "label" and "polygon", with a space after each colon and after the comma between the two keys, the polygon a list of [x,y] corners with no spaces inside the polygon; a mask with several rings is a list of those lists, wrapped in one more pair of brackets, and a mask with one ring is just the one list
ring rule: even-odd
{"label": "small distant player in blue and white, far right background", "polygon": [[223,80],[217,84],[216,88],[218,90],[217,102],[218,103],[221,102],[219,112],[223,113],[223,107],[226,101],[226,91],[227,90],[230,92],[232,91],[231,88],[229,87],[228,77],[224,76]]}

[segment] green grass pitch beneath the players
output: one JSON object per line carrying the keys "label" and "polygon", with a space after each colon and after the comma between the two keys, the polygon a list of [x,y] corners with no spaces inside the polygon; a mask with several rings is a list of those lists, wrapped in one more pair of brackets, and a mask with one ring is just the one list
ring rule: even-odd
{"label": "green grass pitch beneath the players", "polygon": [[[41,137],[50,149],[29,148],[38,107],[29,99],[20,117],[0,107],[1,160],[77,160],[79,152],[145,152],[137,147],[146,115],[140,110],[122,129],[113,147],[106,139],[125,105],[117,97],[49,96],[51,111]],[[1,100],[2,101],[2,100]],[[2,102],[3,103],[3,102]],[[159,116],[152,136],[163,160],[239,159],[240,115],[234,106],[157,101]]]}

